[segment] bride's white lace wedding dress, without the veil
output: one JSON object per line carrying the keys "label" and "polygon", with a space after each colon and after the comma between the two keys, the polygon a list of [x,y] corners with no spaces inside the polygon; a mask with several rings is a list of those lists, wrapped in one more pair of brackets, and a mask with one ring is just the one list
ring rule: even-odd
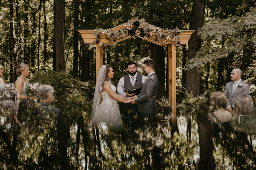
{"label": "bride's white lace wedding dress, without the veil", "polygon": [[[108,83],[111,86],[114,94],[116,95],[116,87],[111,85],[109,82],[105,82],[104,85]],[[100,91],[102,86],[100,87]],[[112,99],[108,92],[101,92],[102,102],[100,106],[96,107],[96,112],[92,118],[89,126],[106,125],[109,129],[123,129],[122,119],[117,105],[117,101]]]}

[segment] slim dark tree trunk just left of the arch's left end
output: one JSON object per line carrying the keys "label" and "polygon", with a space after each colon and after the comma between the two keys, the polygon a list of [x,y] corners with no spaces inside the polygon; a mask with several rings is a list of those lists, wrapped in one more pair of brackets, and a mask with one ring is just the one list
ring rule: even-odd
{"label": "slim dark tree trunk just left of the arch's left end", "polygon": [[74,1],[74,36],[73,36],[73,74],[78,77],[78,22],[79,22],[79,1]]}

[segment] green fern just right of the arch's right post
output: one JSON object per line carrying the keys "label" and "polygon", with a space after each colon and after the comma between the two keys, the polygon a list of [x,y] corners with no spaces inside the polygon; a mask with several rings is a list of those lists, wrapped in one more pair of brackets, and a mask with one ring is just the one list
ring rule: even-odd
{"label": "green fern just right of the arch's right post", "polygon": [[206,120],[206,116],[209,113],[207,97],[204,95],[197,95],[194,97],[194,94],[191,90],[189,93],[186,90],[185,94],[187,95],[186,99],[182,100],[181,104],[177,106],[177,108],[183,111],[185,115],[193,115],[195,120]]}

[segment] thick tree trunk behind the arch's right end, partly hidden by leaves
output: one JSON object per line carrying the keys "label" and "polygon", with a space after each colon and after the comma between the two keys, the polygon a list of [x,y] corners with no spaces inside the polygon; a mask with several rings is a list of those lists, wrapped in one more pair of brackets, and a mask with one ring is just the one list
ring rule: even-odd
{"label": "thick tree trunk behind the arch's right end, partly hidden by leaves", "polygon": [[[202,40],[197,36],[197,30],[204,25],[205,2],[195,0],[192,6],[193,20],[189,23],[189,30],[195,30],[188,41],[188,60],[196,56],[196,52],[202,47]],[[197,95],[200,92],[201,74],[197,73],[196,68],[187,70],[186,89],[189,88]]]}

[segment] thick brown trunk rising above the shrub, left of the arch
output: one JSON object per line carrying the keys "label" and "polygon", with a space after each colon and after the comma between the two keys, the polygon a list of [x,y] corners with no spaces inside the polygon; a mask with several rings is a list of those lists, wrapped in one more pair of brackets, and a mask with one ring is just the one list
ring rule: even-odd
{"label": "thick brown trunk rising above the shrub, left of the arch", "polygon": [[56,70],[59,72],[61,70],[66,71],[64,40],[65,0],[56,0],[55,3]]}

